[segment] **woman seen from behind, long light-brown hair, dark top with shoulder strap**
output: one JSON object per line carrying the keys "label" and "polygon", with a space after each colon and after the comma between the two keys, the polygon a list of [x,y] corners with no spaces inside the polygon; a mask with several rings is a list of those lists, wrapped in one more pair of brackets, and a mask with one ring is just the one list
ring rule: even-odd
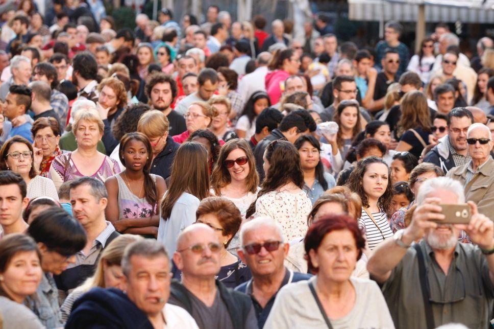
{"label": "woman seen from behind, long light-brown hair, dark top with shoulder strap", "polygon": [[431,113],[427,98],[419,90],[409,91],[401,103],[401,117],[398,122],[400,142],[397,151],[409,151],[417,159],[427,146],[431,134]]}

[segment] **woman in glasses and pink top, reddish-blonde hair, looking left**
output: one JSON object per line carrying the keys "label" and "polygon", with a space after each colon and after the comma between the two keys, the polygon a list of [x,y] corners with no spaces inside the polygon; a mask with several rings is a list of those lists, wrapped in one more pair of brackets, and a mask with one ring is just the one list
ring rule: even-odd
{"label": "woman in glasses and pink top, reddish-blonde hair, looking left", "polygon": [[184,114],[187,130],[180,135],[172,136],[173,140],[179,144],[184,143],[194,131],[208,129],[215,116],[218,116],[218,110],[214,106],[206,102],[192,103]]}

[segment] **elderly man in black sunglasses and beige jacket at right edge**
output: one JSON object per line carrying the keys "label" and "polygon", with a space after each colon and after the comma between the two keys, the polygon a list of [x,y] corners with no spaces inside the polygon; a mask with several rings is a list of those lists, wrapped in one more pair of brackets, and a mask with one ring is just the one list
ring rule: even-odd
{"label": "elderly man in black sunglasses and beige jacket at right edge", "polygon": [[468,128],[466,143],[472,160],[453,168],[447,176],[464,186],[466,200],[475,202],[479,213],[494,219],[494,159],[490,156],[492,138],[489,127],[474,123]]}

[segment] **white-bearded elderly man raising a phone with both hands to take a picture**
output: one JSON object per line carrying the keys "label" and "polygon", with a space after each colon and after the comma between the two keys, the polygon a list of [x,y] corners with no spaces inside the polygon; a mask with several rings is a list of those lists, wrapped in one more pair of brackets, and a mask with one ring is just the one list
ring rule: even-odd
{"label": "white-bearded elderly man raising a phone with both hands to take a picture", "polygon": [[[383,242],[367,269],[380,285],[397,328],[456,322],[489,325],[494,294],[494,223],[469,201],[468,224],[448,218],[438,203],[464,203],[463,186],[449,177],[424,182],[410,225]],[[473,244],[458,242],[464,229]],[[414,241],[419,241],[412,246]],[[475,246],[476,245],[476,246]],[[419,293],[421,292],[421,293]]]}

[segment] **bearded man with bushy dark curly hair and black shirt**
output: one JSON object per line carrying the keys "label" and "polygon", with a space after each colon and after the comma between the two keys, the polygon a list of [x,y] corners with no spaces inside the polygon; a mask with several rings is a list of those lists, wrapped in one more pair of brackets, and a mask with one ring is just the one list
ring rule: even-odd
{"label": "bearded man with bushy dark curly hair and black shirt", "polygon": [[149,105],[166,115],[170,136],[179,135],[187,129],[184,116],[170,107],[177,96],[177,84],[171,76],[164,73],[153,74],[144,86],[144,93]]}

